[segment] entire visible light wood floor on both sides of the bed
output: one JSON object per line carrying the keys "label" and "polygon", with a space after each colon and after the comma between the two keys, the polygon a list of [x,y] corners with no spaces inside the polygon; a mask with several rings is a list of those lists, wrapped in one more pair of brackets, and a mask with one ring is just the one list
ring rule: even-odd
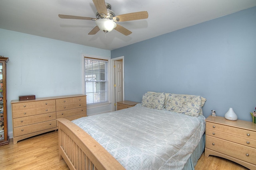
{"label": "entire visible light wood floor on both sides of the bed", "polygon": [[[0,146],[1,170],[69,170],[64,160],[58,158],[58,131],[52,131],[13,145]],[[248,170],[244,166],[217,156],[198,160],[195,170]]]}

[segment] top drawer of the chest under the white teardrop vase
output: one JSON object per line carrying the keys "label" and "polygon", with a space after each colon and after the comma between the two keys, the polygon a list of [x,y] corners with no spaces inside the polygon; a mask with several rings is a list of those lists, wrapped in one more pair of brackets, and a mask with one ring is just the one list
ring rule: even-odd
{"label": "top drawer of the chest under the white teardrop vase", "polygon": [[246,129],[239,129],[236,127],[230,127],[230,126],[220,125],[218,123],[211,123],[211,122],[206,123],[206,128],[256,140],[256,132],[248,131]]}

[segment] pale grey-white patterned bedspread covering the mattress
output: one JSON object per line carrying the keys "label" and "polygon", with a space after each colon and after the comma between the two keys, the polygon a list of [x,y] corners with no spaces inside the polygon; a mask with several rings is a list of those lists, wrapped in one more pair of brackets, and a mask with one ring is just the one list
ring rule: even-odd
{"label": "pale grey-white patterned bedspread covering the mattress", "polygon": [[72,122],[128,170],[182,170],[205,131],[204,119],[137,104]]}

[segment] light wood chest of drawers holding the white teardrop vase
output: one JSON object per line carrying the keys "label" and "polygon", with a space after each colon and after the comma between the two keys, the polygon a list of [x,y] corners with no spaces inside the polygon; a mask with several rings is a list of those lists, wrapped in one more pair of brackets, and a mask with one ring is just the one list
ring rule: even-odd
{"label": "light wood chest of drawers holding the white teardrop vase", "polygon": [[209,116],[206,119],[205,156],[209,155],[226,158],[255,170],[256,124]]}

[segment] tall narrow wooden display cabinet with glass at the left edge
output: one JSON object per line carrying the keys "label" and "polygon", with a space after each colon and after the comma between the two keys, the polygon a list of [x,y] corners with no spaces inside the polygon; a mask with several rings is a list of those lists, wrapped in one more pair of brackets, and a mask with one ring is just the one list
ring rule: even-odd
{"label": "tall narrow wooden display cabinet with glass at the left edge", "polygon": [[0,56],[0,146],[9,143],[6,99],[6,63],[8,61],[8,58]]}

